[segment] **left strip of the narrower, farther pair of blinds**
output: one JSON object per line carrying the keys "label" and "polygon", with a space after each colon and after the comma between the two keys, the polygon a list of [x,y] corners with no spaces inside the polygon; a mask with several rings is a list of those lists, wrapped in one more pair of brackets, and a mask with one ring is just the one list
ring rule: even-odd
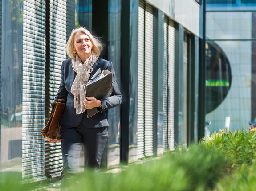
{"label": "left strip of the narrower, farther pair of blinds", "polygon": [[163,58],[163,149],[168,148],[168,18],[164,19]]}

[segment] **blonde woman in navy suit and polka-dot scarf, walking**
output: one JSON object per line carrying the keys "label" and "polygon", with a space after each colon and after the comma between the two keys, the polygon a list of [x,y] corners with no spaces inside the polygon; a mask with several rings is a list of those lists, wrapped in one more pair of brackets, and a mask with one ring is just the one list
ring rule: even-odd
{"label": "blonde woman in navy suit and polka-dot scarf, walking", "polygon": [[[66,45],[69,59],[62,62],[61,84],[54,101],[67,101],[62,114],[61,152],[63,171],[61,187],[73,179],[79,169],[81,145],[84,148],[85,167],[99,171],[102,153],[108,138],[108,121],[105,111],[121,104],[122,96],[116,82],[112,63],[99,58],[102,45],[84,27],[73,29]],[[109,98],[97,100],[85,97],[84,85],[100,70],[112,72],[113,93]],[[86,109],[97,107],[99,113],[87,118]],[[49,140],[53,143],[54,140]]]}

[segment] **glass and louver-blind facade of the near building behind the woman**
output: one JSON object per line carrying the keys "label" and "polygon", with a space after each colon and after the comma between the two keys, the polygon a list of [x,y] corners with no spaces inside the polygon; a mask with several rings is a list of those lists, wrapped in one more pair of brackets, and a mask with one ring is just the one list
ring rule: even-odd
{"label": "glass and louver-blind facade of the near building behind the woman", "polygon": [[[40,131],[59,88],[65,44],[74,27],[100,37],[101,57],[113,63],[122,92],[122,105],[107,112],[103,168],[160,156],[201,138],[198,0],[100,0],[100,5],[93,0],[2,0],[1,5],[1,175],[16,171],[24,182],[60,178],[61,143],[45,141]],[[228,62],[223,45],[208,44],[222,46],[215,54]],[[225,75],[230,70],[222,71],[225,85],[234,84],[234,77]],[[82,158],[81,152],[81,166]]]}

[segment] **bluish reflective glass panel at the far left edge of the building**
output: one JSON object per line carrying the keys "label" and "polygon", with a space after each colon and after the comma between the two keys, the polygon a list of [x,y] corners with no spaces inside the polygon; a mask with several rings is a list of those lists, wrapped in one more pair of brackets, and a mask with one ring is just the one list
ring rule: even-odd
{"label": "bluish reflective glass panel at the far left edge of the building", "polygon": [[[21,172],[23,1],[2,0],[1,178]],[[20,175],[21,178],[21,175]]]}

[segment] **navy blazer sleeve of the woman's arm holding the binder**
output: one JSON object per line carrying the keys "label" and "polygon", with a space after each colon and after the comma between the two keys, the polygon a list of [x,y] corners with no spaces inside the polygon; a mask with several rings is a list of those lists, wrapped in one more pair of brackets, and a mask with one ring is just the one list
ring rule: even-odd
{"label": "navy blazer sleeve of the woman's arm holding the binder", "polygon": [[112,94],[110,97],[100,100],[102,102],[101,113],[103,111],[106,111],[107,109],[111,109],[113,107],[120,105],[122,102],[122,94],[118,88],[118,84],[116,81],[116,74],[115,74],[112,62],[109,63],[109,65],[107,66],[107,69],[112,72]]}

